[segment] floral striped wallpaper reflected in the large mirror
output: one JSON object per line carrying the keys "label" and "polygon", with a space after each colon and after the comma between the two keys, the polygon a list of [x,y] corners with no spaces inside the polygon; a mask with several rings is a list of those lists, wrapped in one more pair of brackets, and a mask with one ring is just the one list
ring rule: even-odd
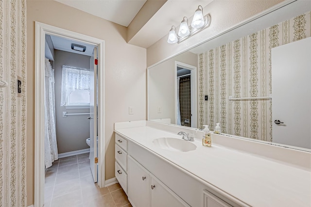
{"label": "floral striped wallpaper reflected in the large mirror", "polygon": [[219,122],[223,133],[272,142],[272,100],[228,98],[269,96],[271,48],[310,37],[310,24],[307,12],[200,54],[200,127]]}

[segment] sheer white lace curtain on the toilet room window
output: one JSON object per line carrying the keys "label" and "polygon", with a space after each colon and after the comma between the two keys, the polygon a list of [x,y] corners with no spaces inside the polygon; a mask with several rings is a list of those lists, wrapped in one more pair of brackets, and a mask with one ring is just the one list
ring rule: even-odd
{"label": "sheer white lace curtain on the toilet room window", "polygon": [[63,66],[60,106],[67,105],[67,97],[72,91],[89,90],[89,75],[89,70]]}

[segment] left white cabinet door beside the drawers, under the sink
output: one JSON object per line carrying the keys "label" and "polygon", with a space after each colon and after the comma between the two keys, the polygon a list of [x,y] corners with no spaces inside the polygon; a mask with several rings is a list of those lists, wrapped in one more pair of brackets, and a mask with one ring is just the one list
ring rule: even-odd
{"label": "left white cabinet door beside the drawers, under the sink", "polygon": [[130,156],[128,156],[128,198],[134,207],[150,207],[149,172]]}

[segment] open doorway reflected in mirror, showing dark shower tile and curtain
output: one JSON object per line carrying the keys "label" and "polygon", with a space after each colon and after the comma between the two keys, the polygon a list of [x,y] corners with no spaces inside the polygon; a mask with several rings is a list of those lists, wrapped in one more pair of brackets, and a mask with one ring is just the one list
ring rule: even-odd
{"label": "open doorway reflected in mirror, showing dark shower tile and curtain", "polygon": [[197,127],[196,67],[175,61],[175,123]]}

